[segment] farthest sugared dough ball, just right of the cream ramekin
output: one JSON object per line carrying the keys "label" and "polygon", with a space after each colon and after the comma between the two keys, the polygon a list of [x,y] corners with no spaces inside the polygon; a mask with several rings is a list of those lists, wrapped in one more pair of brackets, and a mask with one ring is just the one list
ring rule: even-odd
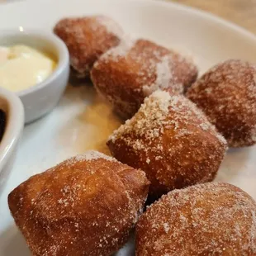
{"label": "farthest sugared dough ball, just right of the cream ramekin", "polygon": [[69,49],[70,64],[75,74],[86,77],[97,58],[119,44],[121,27],[109,17],[64,18],[55,28]]}

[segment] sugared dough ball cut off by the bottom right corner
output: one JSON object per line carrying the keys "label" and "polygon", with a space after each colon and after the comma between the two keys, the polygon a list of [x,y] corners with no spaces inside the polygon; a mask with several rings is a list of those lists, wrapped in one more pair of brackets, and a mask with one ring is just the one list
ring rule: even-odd
{"label": "sugared dough ball cut off by the bottom right corner", "polygon": [[174,190],[136,225],[136,256],[256,255],[256,204],[227,183]]}

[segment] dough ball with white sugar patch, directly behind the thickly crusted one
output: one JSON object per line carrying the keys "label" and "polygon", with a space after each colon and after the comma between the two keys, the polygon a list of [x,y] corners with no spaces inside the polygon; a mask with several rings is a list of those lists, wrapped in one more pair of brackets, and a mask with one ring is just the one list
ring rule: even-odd
{"label": "dough ball with white sugar patch, directly behind the thickly crusted one", "polygon": [[149,40],[123,40],[93,65],[92,83],[124,119],[135,114],[157,89],[183,92],[197,78],[197,67]]}

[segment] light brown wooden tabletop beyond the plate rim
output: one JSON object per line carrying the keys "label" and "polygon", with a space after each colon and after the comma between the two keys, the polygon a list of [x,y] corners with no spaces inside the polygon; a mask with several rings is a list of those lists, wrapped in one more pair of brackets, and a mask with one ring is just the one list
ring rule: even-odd
{"label": "light brown wooden tabletop beyond the plate rim", "polygon": [[256,34],[256,0],[166,0],[212,12]]}

